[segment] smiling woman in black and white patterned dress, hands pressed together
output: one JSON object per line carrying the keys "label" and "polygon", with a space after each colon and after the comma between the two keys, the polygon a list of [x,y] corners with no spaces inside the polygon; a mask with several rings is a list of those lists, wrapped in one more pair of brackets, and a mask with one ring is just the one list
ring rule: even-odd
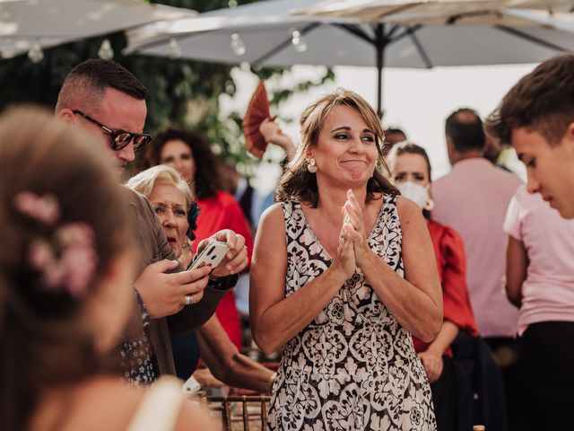
{"label": "smiling woman in black and white patterned dress, hands pressed together", "polygon": [[435,429],[411,337],[430,342],[442,323],[421,210],[387,179],[380,122],[361,96],[320,98],[300,128],[251,267],[254,339],[266,353],[283,347],[268,426]]}

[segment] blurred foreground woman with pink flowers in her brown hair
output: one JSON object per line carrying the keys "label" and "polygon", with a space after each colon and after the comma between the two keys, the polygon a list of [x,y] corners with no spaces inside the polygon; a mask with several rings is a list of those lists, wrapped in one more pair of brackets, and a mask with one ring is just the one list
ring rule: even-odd
{"label": "blurred foreground woman with pink flowers in her brown hair", "polygon": [[213,429],[177,380],[145,392],[115,376],[135,270],[115,178],[91,136],[48,113],[0,120],[3,429]]}

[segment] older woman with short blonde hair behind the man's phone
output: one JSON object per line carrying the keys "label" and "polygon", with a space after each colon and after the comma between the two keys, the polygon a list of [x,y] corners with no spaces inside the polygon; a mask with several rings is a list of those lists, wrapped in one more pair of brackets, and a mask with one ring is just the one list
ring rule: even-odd
{"label": "older woman with short blonde hair behind the man's phone", "polygon": [[[193,256],[186,257],[182,251],[187,242],[189,229],[187,213],[194,207],[193,196],[187,182],[175,169],[161,164],[138,173],[127,181],[126,186],[139,191],[149,199],[160,218],[176,258],[187,268]],[[207,246],[206,249],[210,247]],[[243,251],[241,256],[242,262],[237,268],[238,271],[247,266],[247,250]],[[218,270],[216,267],[213,272]],[[239,354],[238,348],[230,341],[217,316],[213,315],[206,321],[196,331],[196,336],[199,349],[195,354],[193,349],[189,354],[189,348],[178,349],[174,346],[174,360],[179,377],[187,379],[195,370],[197,360],[201,356],[213,375],[223,383],[262,393],[270,391],[273,372],[247,356]],[[183,341],[191,345],[194,339],[186,337]]]}

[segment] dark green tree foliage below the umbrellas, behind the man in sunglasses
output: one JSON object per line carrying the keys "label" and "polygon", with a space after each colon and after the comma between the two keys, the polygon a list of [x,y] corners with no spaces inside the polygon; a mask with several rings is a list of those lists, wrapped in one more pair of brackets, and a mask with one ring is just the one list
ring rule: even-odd
{"label": "dark green tree foliage below the umbrellas, behind the man in sunglasses", "polygon": [[[153,0],[150,3],[169,4],[206,12],[228,7],[229,0]],[[238,1],[253,3],[253,0]],[[145,128],[154,133],[167,126],[195,128],[203,132],[214,144],[222,159],[236,163],[239,171],[249,175],[257,163],[245,151],[241,135],[241,117],[232,112],[222,118],[219,96],[233,95],[236,83],[230,76],[231,66],[147,56],[123,56],[126,47],[123,32],[79,40],[45,50],[39,64],[30,62],[26,55],[0,60],[0,110],[13,103],[39,103],[53,109],[57,92],[65,75],[77,64],[88,58],[97,58],[101,42],[109,39],[114,50],[114,60],[134,73],[148,89],[148,118]],[[283,68],[253,70],[261,79],[282,75]],[[306,91],[311,85],[333,79],[328,70],[317,83],[303,82],[292,88],[281,88],[271,95],[271,103],[280,108],[293,92]]]}

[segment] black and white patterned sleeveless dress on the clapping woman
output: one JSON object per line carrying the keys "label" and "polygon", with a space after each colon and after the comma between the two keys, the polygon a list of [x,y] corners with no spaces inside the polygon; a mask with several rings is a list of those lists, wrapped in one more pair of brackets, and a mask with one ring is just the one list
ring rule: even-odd
{"label": "black and white patterned sleeveless dress on the clapping woman", "polygon": [[[332,262],[297,202],[282,203],[285,295]],[[385,197],[370,248],[403,276],[396,198]],[[404,330],[359,268],[283,347],[268,418],[273,430],[434,430],[431,388]]]}

